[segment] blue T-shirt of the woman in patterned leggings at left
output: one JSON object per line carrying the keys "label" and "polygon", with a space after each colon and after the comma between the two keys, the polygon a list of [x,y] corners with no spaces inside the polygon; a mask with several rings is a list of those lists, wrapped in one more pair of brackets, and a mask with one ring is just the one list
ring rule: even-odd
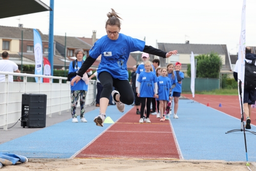
{"label": "blue T-shirt of the woman in patterned leggings at left", "polygon": [[[73,62],[70,62],[70,65],[69,65],[69,73],[71,73],[71,72],[78,73],[79,69],[82,66],[82,61],[77,61],[77,68],[76,68],[76,64],[75,64],[75,67],[73,68],[72,63]],[[71,80],[74,77],[72,77]],[[84,82],[82,79],[80,79],[77,83],[74,82],[74,86],[71,86],[71,90],[86,90],[86,91],[88,91],[88,85],[86,84],[86,82]]]}

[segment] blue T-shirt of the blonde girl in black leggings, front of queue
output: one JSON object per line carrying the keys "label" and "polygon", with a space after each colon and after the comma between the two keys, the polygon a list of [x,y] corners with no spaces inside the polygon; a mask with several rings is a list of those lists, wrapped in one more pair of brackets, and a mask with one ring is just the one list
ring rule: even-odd
{"label": "blue T-shirt of the blonde girl in black leggings, front of queue", "polygon": [[157,82],[157,76],[154,72],[142,72],[138,80],[140,82],[140,97],[154,97],[154,83]]}

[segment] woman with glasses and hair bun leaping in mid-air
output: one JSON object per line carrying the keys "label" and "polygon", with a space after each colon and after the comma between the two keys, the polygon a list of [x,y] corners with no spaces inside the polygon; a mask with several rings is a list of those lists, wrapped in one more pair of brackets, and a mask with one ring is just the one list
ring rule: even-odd
{"label": "woman with glasses and hair bun leaping in mid-air", "polygon": [[[93,65],[98,56],[101,55],[97,72],[103,90],[100,95],[100,114],[94,119],[94,122],[98,126],[103,126],[111,92],[116,102],[117,109],[120,112],[124,112],[124,104],[131,105],[134,102],[134,94],[128,80],[126,65],[131,52],[142,51],[163,58],[177,54],[177,50],[166,53],[151,46],[145,46],[145,42],[142,40],[119,33],[121,30],[120,17],[113,9],[107,16],[109,19],[105,24],[106,35],[95,42],[94,46],[89,51],[90,55],[86,58],[77,76],[71,81],[71,85],[79,81],[83,73],[86,72]],[[112,91],[113,86],[118,91]]]}

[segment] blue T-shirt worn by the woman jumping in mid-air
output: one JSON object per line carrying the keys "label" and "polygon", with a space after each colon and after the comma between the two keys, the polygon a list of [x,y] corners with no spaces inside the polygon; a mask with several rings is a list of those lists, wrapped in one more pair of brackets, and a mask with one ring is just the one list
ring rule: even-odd
{"label": "blue T-shirt worn by the woman jumping in mid-air", "polygon": [[89,51],[92,58],[101,55],[98,77],[106,71],[114,78],[128,80],[127,60],[131,52],[143,51],[145,42],[119,33],[118,39],[111,40],[107,35],[98,39]]}

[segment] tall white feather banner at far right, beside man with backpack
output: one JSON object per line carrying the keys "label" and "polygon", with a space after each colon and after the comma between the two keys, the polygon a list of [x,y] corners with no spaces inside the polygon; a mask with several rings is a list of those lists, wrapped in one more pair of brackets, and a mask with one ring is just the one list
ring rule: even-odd
{"label": "tall white feather banner at far right, beside man with backpack", "polygon": [[[245,12],[246,12],[246,0],[243,2],[242,16],[241,16],[241,33],[238,49],[238,92],[239,92],[239,80],[242,82],[242,102],[244,101],[244,68],[245,68]],[[238,94],[240,99],[240,94]],[[240,100],[239,100],[240,101]],[[241,102],[240,102],[240,107]],[[241,108],[242,109],[242,108]],[[242,110],[241,110],[242,112]]]}

